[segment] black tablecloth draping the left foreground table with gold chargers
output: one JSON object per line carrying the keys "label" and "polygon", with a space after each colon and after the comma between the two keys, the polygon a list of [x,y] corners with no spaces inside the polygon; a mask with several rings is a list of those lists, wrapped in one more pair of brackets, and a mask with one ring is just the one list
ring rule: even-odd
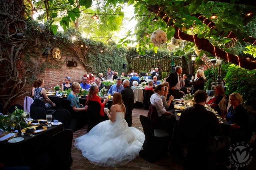
{"label": "black tablecloth draping the left foreground table with gold chargers", "polygon": [[54,148],[47,148],[49,139],[62,130],[62,125],[47,127],[35,136],[22,136],[24,140],[18,143],[8,143],[8,140],[0,142],[0,162],[5,166],[35,166],[37,159]]}

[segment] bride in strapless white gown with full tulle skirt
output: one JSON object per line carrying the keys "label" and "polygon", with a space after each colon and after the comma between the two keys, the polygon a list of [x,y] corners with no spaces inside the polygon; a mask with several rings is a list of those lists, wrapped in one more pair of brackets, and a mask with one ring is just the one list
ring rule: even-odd
{"label": "bride in strapless white gown with full tulle skirt", "polygon": [[95,165],[123,166],[136,158],[142,150],[145,135],[135,127],[128,127],[124,119],[125,106],[121,93],[114,93],[113,105],[104,110],[105,120],[91,131],[75,139],[75,147]]}

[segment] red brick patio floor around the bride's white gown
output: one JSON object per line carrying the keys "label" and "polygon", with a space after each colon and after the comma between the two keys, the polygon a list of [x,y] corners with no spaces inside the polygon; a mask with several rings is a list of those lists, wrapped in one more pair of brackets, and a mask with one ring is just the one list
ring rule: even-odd
{"label": "red brick patio floor around the bride's white gown", "polygon": [[[143,131],[143,128],[141,126],[140,123],[140,119],[139,116],[140,115],[144,115],[146,116],[148,110],[144,110],[144,109],[134,109],[132,112],[132,121],[133,127],[136,127],[140,130]],[[89,160],[85,157],[83,157],[82,153],[80,150],[77,150],[74,147],[74,141],[75,138],[86,134],[87,130],[87,125],[85,125],[83,128],[81,128],[80,130],[74,132],[74,137],[73,137],[73,142],[72,142],[72,150],[71,150],[71,155],[73,158],[73,163],[71,165],[71,170],[77,170],[77,169],[86,169],[86,170],[96,170],[96,169],[115,169],[113,167],[100,167],[94,164],[91,164],[89,162]],[[256,147],[254,146],[254,139],[255,139],[255,132],[253,133],[252,139],[250,141],[250,145],[253,146],[253,157],[256,156]],[[251,148],[251,147],[250,147]],[[200,161],[198,162],[200,163]],[[216,166],[216,169],[221,170],[223,167],[223,165],[218,165]],[[183,166],[182,166],[182,162],[179,161],[179,159],[177,157],[173,157],[171,155],[168,154],[168,158],[165,158],[163,160],[154,162],[154,163],[149,163],[146,160],[144,160],[143,158],[137,157],[134,160],[128,162],[125,166],[122,167],[117,167],[116,169],[118,170],[124,170],[124,169],[130,169],[130,170],[147,170],[147,169],[158,169],[158,170],[182,170]],[[256,169],[256,159],[253,158],[253,161],[244,168],[238,168],[239,170],[242,169],[247,169],[247,170],[255,170]]]}

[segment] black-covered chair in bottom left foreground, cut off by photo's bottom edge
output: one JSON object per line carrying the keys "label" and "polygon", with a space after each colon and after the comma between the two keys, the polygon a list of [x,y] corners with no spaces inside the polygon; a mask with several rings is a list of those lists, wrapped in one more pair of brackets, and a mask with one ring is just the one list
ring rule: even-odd
{"label": "black-covered chair in bottom left foreground, cut off by photo's bottom edge", "polygon": [[53,135],[48,141],[48,150],[50,169],[70,170],[73,162],[71,157],[71,147],[73,140],[73,132],[70,129],[63,130]]}

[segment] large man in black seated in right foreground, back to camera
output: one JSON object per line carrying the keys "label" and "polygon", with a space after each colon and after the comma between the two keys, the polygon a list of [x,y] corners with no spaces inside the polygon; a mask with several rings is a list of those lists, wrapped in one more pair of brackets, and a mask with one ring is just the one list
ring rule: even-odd
{"label": "large man in black seated in right foreground, back to camera", "polygon": [[204,108],[207,97],[207,93],[204,90],[197,90],[194,94],[195,104],[183,110],[180,116],[178,134],[180,139],[188,143],[188,148],[191,150],[191,157],[189,157],[189,160],[186,160],[187,164],[183,168],[210,169],[211,167],[207,166],[214,166],[214,164],[212,163],[213,165],[211,165],[205,161],[202,161],[200,165],[195,162],[198,165],[195,168],[195,165],[191,165],[194,162],[193,158],[202,156],[200,155],[201,152],[209,151],[210,154],[211,152],[218,151],[222,153],[218,159],[222,158],[221,162],[225,164],[226,169],[237,169],[237,167],[231,167],[229,161],[231,157],[231,149],[229,150],[231,147],[230,138],[225,135],[215,136],[221,135],[222,128],[216,115]]}

